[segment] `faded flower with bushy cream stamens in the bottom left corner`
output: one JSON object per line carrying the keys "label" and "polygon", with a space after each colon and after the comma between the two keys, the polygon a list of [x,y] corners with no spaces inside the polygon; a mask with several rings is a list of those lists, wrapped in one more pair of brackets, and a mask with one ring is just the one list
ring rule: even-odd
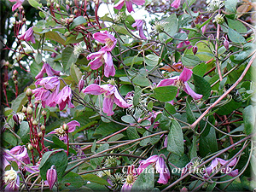
{"label": "faded flower with bushy cream stamens in the bottom left corner", "polygon": [[4,191],[19,191],[20,177],[13,168],[3,173],[3,184],[6,184]]}

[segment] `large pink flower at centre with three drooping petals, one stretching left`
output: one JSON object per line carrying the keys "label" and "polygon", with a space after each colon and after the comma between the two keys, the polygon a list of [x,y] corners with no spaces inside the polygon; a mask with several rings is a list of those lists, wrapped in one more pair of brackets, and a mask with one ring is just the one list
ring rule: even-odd
{"label": "large pink flower at centre with three drooping petals, one stretching left", "polygon": [[119,90],[112,84],[90,84],[84,90],[84,93],[91,95],[104,94],[103,100],[103,112],[108,116],[113,115],[113,102],[115,102],[120,108],[130,108],[131,104],[125,102],[124,98],[120,96]]}

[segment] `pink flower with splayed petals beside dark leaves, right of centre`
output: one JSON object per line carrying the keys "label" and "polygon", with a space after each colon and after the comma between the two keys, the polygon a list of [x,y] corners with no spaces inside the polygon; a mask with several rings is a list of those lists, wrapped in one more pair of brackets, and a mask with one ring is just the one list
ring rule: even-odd
{"label": "pink flower with splayed petals beside dark leaves, right of centre", "polygon": [[189,96],[192,96],[194,99],[201,99],[202,95],[195,93],[195,91],[192,90],[187,83],[187,81],[191,78],[192,73],[192,70],[184,67],[183,72],[179,76],[175,76],[170,79],[163,79],[159,84],[157,84],[157,87],[175,85],[178,88],[177,95],[179,90],[183,89],[187,94],[189,94]]}

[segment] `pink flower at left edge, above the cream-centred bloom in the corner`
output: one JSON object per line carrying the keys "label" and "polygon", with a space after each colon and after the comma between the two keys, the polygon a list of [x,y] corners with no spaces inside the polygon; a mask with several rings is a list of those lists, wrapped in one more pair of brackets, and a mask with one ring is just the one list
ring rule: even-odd
{"label": "pink flower at left edge, above the cream-centred bloom in the corner", "polygon": [[[15,146],[15,147],[12,148],[12,149],[6,150],[6,151],[8,151],[9,154],[13,154],[13,156],[14,156],[15,158],[13,158],[12,156],[10,156],[9,154],[4,153],[5,159],[6,159],[6,160],[9,160],[9,161],[15,161],[15,162],[18,164],[18,166],[21,166],[20,161],[22,161],[22,162],[24,162],[24,163],[26,163],[26,164],[30,164],[30,163],[31,163],[31,162],[30,162],[30,159],[29,159],[29,156],[28,156],[28,154],[27,154],[27,149],[26,149],[25,146],[20,146],[20,145],[18,145],[18,146]],[[20,161],[18,161],[18,160],[16,160],[16,159],[18,159],[18,160],[20,160]]]}

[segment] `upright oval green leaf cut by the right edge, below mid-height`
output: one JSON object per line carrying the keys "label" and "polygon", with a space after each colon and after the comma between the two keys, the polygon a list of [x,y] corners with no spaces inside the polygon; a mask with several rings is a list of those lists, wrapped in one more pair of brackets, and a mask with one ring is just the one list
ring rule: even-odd
{"label": "upright oval green leaf cut by the right edge, below mid-height", "polygon": [[255,125],[255,111],[252,105],[243,109],[242,117],[244,120],[244,133],[249,135],[253,132]]}

